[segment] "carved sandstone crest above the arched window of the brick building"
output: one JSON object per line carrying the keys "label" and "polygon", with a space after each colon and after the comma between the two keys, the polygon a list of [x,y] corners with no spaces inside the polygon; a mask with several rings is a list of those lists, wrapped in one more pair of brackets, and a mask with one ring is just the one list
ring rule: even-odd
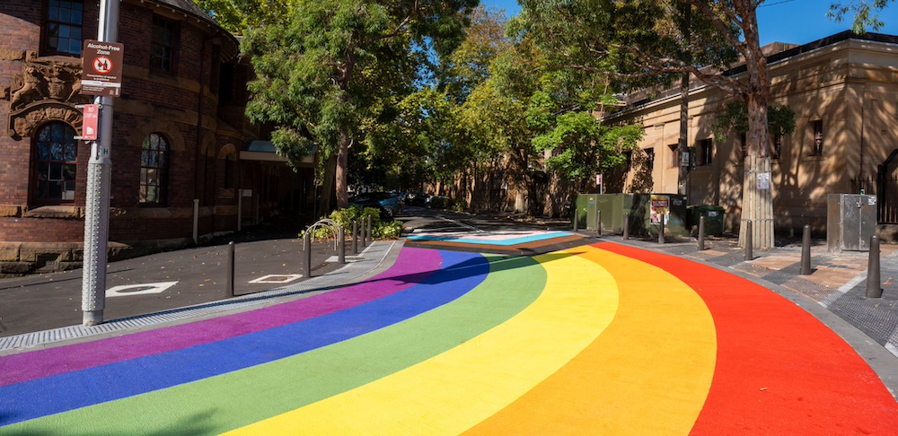
{"label": "carved sandstone crest above the arched window of the brick building", "polygon": [[22,63],[22,74],[13,75],[9,92],[8,134],[31,136],[34,128],[48,120],[65,121],[79,127],[81,110],[75,104],[88,102],[81,95],[81,65],[57,60]]}

